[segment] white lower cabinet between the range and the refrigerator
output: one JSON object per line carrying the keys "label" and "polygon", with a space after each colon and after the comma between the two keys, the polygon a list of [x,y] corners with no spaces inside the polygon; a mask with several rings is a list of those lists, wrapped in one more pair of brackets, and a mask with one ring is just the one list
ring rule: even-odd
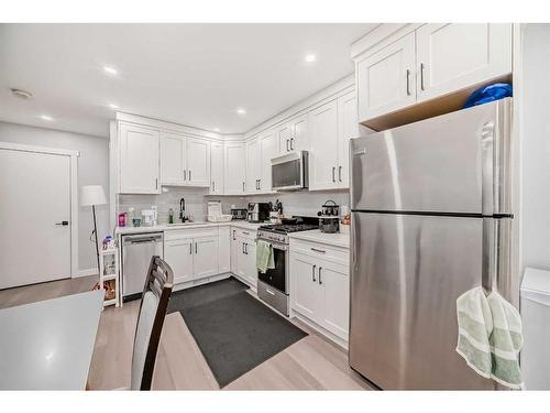
{"label": "white lower cabinet between the range and the refrigerator", "polygon": [[323,256],[293,250],[290,241],[292,308],[321,327],[321,333],[329,332],[348,341],[349,264],[338,258],[341,251],[331,254],[328,248],[316,249],[324,251]]}

